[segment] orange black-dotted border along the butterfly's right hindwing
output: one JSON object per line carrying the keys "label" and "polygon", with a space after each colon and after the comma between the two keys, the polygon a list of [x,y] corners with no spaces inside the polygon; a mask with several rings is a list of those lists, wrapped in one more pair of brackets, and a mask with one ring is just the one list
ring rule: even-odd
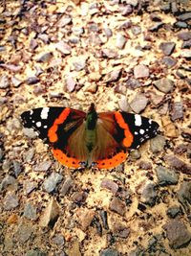
{"label": "orange black-dotted border along the butterfly's right hindwing", "polygon": [[114,155],[114,157],[112,158],[96,161],[96,167],[98,169],[114,168],[117,165],[124,162],[126,157],[127,157],[127,152],[121,151],[121,152],[118,152],[116,155]]}

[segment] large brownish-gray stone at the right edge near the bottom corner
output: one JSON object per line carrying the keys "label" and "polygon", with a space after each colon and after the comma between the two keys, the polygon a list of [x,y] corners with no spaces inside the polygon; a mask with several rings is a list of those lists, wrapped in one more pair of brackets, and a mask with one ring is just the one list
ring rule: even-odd
{"label": "large brownish-gray stone at the right edge near the bottom corner", "polygon": [[169,244],[173,249],[183,247],[191,240],[191,233],[181,221],[170,221],[163,225],[162,228],[166,231]]}

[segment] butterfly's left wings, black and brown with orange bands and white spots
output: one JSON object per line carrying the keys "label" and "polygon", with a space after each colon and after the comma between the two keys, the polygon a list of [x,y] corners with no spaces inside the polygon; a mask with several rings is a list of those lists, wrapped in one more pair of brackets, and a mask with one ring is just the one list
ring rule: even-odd
{"label": "butterfly's left wings, black and brown with orange bands and white spots", "polygon": [[84,144],[85,112],[68,107],[39,107],[22,113],[25,128],[38,132],[53,149],[54,157],[62,164],[80,167],[87,158]]}

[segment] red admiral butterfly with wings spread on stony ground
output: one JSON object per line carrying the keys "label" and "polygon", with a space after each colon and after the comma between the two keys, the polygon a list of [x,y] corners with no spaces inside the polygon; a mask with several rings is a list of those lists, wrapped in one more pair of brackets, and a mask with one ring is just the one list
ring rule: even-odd
{"label": "red admiral butterfly with wings spread on stony ground", "polygon": [[39,107],[21,114],[25,128],[37,131],[53,156],[69,168],[111,169],[125,161],[158,133],[159,125],[146,117],[124,111],[87,113],[69,107]]}

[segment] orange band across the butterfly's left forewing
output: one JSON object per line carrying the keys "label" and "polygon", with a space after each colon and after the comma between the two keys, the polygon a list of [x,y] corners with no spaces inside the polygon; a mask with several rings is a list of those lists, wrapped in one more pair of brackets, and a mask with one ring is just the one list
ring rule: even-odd
{"label": "orange band across the butterfly's left forewing", "polygon": [[58,138],[57,138],[56,131],[57,131],[58,125],[61,125],[64,123],[64,121],[67,119],[68,115],[70,114],[70,111],[71,111],[70,108],[66,107],[58,116],[58,118],[56,118],[55,121],[53,122],[53,126],[48,131],[48,137],[51,142],[57,141]]}

